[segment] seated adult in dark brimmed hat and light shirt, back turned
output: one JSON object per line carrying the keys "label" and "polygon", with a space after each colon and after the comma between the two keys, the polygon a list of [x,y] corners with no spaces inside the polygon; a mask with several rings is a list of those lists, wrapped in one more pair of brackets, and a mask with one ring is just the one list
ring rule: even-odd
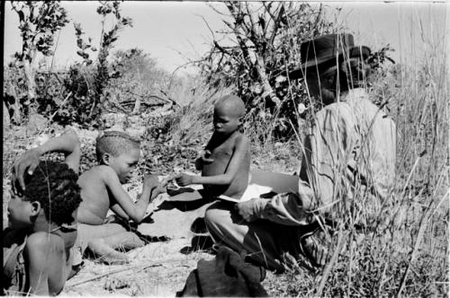
{"label": "seated adult in dark brimmed hat and light shirt, back turned", "polygon": [[356,47],[350,34],[330,34],[300,50],[302,65],[288,75],[303,78],[323,108],[304,136],[298,193],[234,209],[218,202],[205,215],[217,244],[277,271],[297,266],[301,255],[324,266],[333,253],[329,236],[373,226],[394,180],[395,124],[366,92],[370,48]]}

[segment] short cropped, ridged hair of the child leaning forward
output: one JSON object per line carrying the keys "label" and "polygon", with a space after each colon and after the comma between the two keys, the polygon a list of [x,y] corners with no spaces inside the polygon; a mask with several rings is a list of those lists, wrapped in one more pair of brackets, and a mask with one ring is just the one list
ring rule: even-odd
{"label": "short cropped, ridged hair of the child leaning forward", "polygon": [[115,157],[135,148],[139,149],[137,139],[121,131],[106,131],[97,137],[95,153],[97,161],[101,161],[104,153],[110,153]]}

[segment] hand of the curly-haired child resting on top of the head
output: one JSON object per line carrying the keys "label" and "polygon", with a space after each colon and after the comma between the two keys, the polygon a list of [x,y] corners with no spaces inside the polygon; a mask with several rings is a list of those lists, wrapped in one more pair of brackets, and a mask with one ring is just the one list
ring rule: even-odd
{"label": "hand of the curly-haired child resting on top of the head", "polygon": [[39,165],[39,157],[40,153],[35,149],[31,149],[24,153],[19,160],[14,162],[11,186],[15,194],[25,190],[25,171],[27,171],[29,175],[32,175]]}

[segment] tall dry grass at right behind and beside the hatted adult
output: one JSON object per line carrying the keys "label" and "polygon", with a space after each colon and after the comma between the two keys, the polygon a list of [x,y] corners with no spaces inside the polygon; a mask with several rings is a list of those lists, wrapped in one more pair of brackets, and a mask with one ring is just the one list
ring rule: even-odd
{"label": "tall dry grass at right behind and beside the hatted adult", "polygon": [[374,93],[389,101],[398,128],[396,188],[378,215],[374,232],[365,232],[363,240],[356,239],[356,231],[340,232],[342,250],[337,250],[334,264],[316,276],[302,268],[275,276],[267,284],[279,289],[272,294],[448,294],[450,83],[446,66],[446,51],[437,48],[413,67],[392,67],[374,84]]}

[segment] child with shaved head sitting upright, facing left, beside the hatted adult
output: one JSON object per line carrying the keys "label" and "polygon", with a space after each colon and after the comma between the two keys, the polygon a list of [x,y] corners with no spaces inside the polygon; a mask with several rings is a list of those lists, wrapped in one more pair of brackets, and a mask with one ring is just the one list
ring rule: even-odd
{"label": "child with shaved head sitting upright, facing left, beside the hatted adult", "polygon": [[195,162],[202,176],[180,173],[175,176],[178,185],[202,184],[208,198],[242,197],[248,186],[250,168],[248,139],[241,132],[244,114],[244,102],[238,96],[227,95],[216,102],[214,132]]}

